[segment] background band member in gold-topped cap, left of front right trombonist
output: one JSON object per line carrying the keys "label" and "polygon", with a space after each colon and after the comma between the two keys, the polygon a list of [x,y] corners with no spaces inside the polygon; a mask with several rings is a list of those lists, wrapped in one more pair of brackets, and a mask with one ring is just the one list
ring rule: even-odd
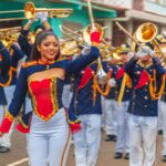
{"label": "background band member in gold-topped cap, left of front right trombonist", "polygon": [[[116,85],[115,85],[115,93],[116,93],[116,101],[117,96],[120,95],[120,90],[123,83],[124,77],[124,65],[128,61],[128,53],[131,49],[127,44],[121,45],[118,53],[121,56],[121,63],[113,66],[113,76],[115,77]],[[124,96],[122,98],[122,104],[116,106],[116,129],[117,129],[117,141],[115,145],[115,155],[114,158],[122,158],[123,153],[125,153],[124,158],[129,158],[129,141],[128,141],[128,100],[131,95],[131,87],[129,85],[125,89]],[[117,103],[116,103],[117,104]]]}

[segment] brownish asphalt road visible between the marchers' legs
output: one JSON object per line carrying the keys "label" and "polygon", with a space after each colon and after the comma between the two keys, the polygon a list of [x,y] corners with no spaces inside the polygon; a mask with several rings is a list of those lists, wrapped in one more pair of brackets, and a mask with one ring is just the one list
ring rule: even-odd
{"label": "brownish asphalt road visible between the marchers' legs", "polygon": [[[105,134],[103,133],[102,147],[97,166],[128,166],[128,160],[114,159],[114,143],[104,142]],[[157,139],[157,166],[166,166],[160,159],[162,136]],[[72,144],[66,166],[75,166],[74,164],[74,145]],[[20,163],[20,164],[19,164]],[[14,132],[12,135],[12,148],[10,153],[0,154],[0,166],[28,166],[25,151],[25,135]]]}

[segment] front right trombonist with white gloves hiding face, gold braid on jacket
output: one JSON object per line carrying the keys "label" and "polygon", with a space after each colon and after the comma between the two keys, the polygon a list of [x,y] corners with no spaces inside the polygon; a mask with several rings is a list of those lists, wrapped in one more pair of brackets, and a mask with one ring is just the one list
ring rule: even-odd
{"label": "front right trombonist with white gloves hiding face, gold braid on jacket", "polygon": [[146,43],[125,65],[133,90],[128,106],[129,166],[152,166],[156,159],[158,98],[165,71],[153,55],[152,44]]}

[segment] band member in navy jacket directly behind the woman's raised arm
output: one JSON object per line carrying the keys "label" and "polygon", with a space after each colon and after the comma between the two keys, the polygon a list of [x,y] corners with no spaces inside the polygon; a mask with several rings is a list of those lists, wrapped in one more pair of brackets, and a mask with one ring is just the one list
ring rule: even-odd
{"label": "band member in navy jacket directly behind the woman's raised arm", "polygon": [[[85,51],[85,50],[84,50]],[[103,65],[106,70],[106,63]],[[75,165],[95,166],[101,145],[102,104],[96,91],[97,63],[92,63],[74,75],[70,110],[81,120],[81,131],[73,134]]]}

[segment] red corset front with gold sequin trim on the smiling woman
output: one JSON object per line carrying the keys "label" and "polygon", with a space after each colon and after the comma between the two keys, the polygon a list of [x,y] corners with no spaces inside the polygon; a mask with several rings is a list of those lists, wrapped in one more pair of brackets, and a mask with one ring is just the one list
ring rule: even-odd
{"label": "red corset front with gold sequin trim on the smiling woman", "polygon": [[44,121],[49,121],[59,110],[55,84],[55,77],[32,81],[29,84],[33,110]]}

